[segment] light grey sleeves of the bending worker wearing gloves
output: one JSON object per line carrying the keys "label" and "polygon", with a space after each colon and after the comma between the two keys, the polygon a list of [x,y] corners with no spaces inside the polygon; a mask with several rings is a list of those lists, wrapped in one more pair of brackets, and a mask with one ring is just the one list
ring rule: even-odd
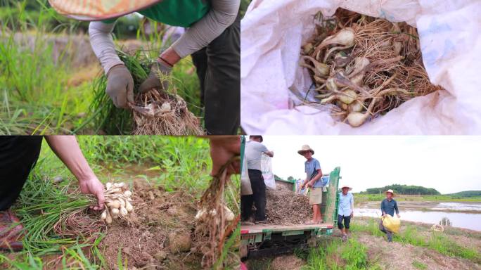
{"label": "light grey sleeves of the bending worker wearing gloves", "polygon": [[[211,0],[211,10],[172,44],[172,49],[184,58],[203,49],[219,37],[237,17],[241,0]],[[115,52],[112,31],[115,23],[91,22],[89,25],[90,44],[105,73],[115,65],[122,64]]]}

